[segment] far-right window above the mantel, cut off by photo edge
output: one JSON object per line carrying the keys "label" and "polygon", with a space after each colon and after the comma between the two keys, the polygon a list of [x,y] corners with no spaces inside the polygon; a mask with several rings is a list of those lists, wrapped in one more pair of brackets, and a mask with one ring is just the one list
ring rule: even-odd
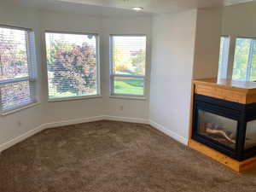
{"label": "far-right window above the mantel, cut off by photo edge", "polygon": [[236,51],[232,79],[256,80],[256,39],[236,38]]}

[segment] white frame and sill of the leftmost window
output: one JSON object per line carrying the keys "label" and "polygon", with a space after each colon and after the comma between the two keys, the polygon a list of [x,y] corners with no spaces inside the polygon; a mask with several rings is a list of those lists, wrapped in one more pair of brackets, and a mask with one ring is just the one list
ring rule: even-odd
{"label": "white frame and sill of the leftmost window", "polygon": [[[37,83],[37,55],[36,55],[36,48],[35,48],[35,37],[34,32],[31,28],[25,28],[20,26],[8,26],[8,25],[1,25],[0,27],[15,29],[15,30],[22,30],[26,32],[26,55],[27,55],[27,67],[28,67],[28,76],[19,79],[8,79],[8,80],[0,80],[0,86],[6,84],[14,84],[20,83],[24,81],[29,82],[30,86],[30,96],[32,96],[31,102],[24,102],[20,105],[15,106],[14,108],[9,108],[3,110],[2,104],[2,96],[1,96],[1,89],[0,89],[0,111],[1,115],[7,115],[9,113],[15,113],[25,108],[31,108],[38,104],[38,98],[36,94],[36,83]],[[33,65],[32,65],[33,63]]]}

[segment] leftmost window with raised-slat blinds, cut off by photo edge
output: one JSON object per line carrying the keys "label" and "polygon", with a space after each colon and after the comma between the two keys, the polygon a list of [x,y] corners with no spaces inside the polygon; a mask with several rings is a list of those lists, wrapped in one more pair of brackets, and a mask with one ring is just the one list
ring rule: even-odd
{"label": "leftmost window with raised-slat blinds, cut off by photo edge", "polygon": [[35,61],[33,32],[0,26],[0,106],[3,113],[36,102]]}

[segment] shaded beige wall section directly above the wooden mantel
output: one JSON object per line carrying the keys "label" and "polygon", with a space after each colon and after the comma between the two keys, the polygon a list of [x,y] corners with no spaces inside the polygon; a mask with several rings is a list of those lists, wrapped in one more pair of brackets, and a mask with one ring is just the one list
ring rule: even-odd
{"label": "shaded beige wall section directly above the wooden mantel", "polygon": [[198,9],[193,79],[218,77],[222,9]]}

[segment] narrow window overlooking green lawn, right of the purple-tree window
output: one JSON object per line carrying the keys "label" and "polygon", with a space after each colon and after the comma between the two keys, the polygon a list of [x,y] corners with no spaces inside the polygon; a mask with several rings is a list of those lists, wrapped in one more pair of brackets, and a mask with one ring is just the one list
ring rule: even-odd
{"label": "narrow window overlooking green lawn, right of the purple-tree window", "polygon": [[146,36],[110,37],[111,94],[144,96]]}

